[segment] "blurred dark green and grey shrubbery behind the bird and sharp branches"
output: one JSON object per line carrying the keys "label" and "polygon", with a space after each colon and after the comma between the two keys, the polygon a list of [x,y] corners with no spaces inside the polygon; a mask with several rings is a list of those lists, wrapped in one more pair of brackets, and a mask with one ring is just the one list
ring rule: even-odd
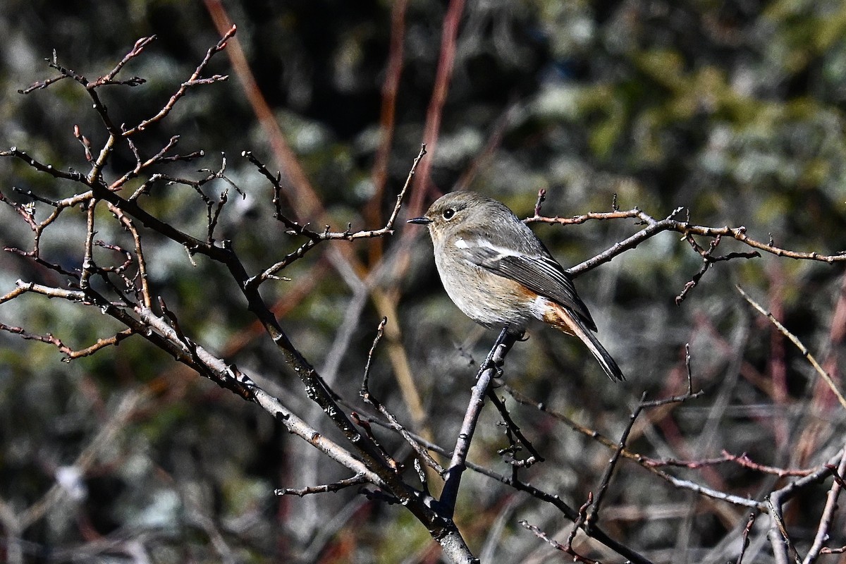
{"label": "blurred dark green and grey shrubbery behind the bird and sharp branches", "polygon": [[[118,123],[137,123],[188,79],[227,19],[238,25],[237,47],[219,53],[209,72],[230,79],[190,90],[140,138],[140,151],[153,154],[179,134],[180,152],[205,151],[168,169],[186,178],[226,159],[228,178],[246,196],[230,194],[218,236],[232,239],[257,272],[304,240],[273,219],[272,189],[242,151],[282,171],[289,216],[343,231],[348,223],[382,227],[425,142],[430,152],[393,237],[322,244],[281,273],[289,280],[263,292],[294,345],[353,402],[387,315],[392,329],[376,352],[372,390],[447,449],[496,335],[449,302],[425,230],[404,224],[437,195],[475,189],[525,217],[539,189],[547,190],[547,216],[610,211],[617,194],[620,209],[639,207],[656,219],[684,206],[680,216],[689,211],[691,222],[744,225],[751,238],[772,237],[786,249],[846,249],[846,7],[835,0],[9,0],[0,13],[0,147],[86,171],[74,125],[95,148],[106,134],[85,90],[63,80],[17,91],[56,74],[45,57],[55,50],[63,66],[95,79],[141,36],[157,36],[118,75],[146,84],[101,90]],[[229,58],[236,52],[243,59]],[[131,152],[119,151],[107,176],[134,164]],[[22,162],[0,161],[0,191],[29,201],[13,187],[46,198],[74,189]],[[190,188],[162,187],[143,204],[205,235],[206,211]],[[4,205],[0,217],[3,246],[31,249],[30,229],[14,210]],[[98,237],[131,247],[117,227],[102,226]],[[640,226],[533,229],[573,266]],[[85,214],[69,211],[41,249],[79,266],[84,234]],[[208,260],[192,265],[179,245],[146,237],[153,293],[186,333],[331,435],[228,273]],[[824,462],[842,446],[842,410],[734,286],[771,309],[838,378],[843,267],[774,255],[721,262],[677,305],[702,264],[679,237],[651,238],[575,282],[628,381],[607,381],[578,342],[554,331],[530,331],[508,356],[503,380],[616,440],[642,392],[684,392],[689,343],[695,388],[706,394],[644,416],[634,450],[693,460],[726,449],[780,468]],[[717,254],[748,250],[727,240]],[[19,255],[0,255],[0,294],[19,278],[63,283]],[[83,306],[35,296],[0,305],[0,321],[74,348],[121,329]],[[69,364],[56,348],[6,332],[0,345],[0,523],[3,546],[21,539],[25,561],[438,561],[437,545],[403,509],[354,490],[274,496],[274,488],[347,476],[261,409],[143,339]],[[521,476],[579,507],[596,489],[607,450],[510,397],[508,406],[547,458]],[[470,458],[508,475],[497,456],[507,446],[497,421],[487,406]],[[387,432],[382,438],[403,452]],[[775,483],[730,464],[674,472],[739,496],[760,497]],[[516,524],[528,519],[566,538],[569,522],[552,507],[478,474],[463,487],[457,522],[477,555],[559,561]],[[45,497],[49,491],[55,495]],[[808,496],[788,515],[797,542],[812,538],[824,496]],[[656,562],[735,559],[748,513],[673,489],[634,464],[618,470],[607,503],[603,527]],[[755,534],[765,523],[761,517]],[[846,544],[843,517],[835,524],[832,545]],[[615,561],[596,544],[582,550]],[[759,546],[744,561],[770,558]]]}

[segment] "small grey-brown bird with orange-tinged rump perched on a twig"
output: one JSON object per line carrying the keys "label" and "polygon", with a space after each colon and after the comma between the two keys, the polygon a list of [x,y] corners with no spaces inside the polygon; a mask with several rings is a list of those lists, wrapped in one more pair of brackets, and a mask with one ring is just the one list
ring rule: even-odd
{"label": "small grey-brown bird with orange-tinged rump perched on a twig", "polygon": [[508,206],[456,190],[408,222],[428,227],[443,287],[464,315],[512,335],[541,320],[584,342],[613,381],[625,379],[567,271]]}

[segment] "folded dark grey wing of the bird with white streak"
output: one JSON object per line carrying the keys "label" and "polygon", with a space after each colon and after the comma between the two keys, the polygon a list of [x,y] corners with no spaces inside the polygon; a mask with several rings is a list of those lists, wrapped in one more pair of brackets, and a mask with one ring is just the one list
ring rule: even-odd
{"label": "folded dark grey wing of the bird with white streak", "polygon": [[552,256],[530,255],[475,238],[459,238],[454,247],[464,260],[552,299],[578,315],[591,331],[596,331],[596,323],[576,293],[573,281]]}

